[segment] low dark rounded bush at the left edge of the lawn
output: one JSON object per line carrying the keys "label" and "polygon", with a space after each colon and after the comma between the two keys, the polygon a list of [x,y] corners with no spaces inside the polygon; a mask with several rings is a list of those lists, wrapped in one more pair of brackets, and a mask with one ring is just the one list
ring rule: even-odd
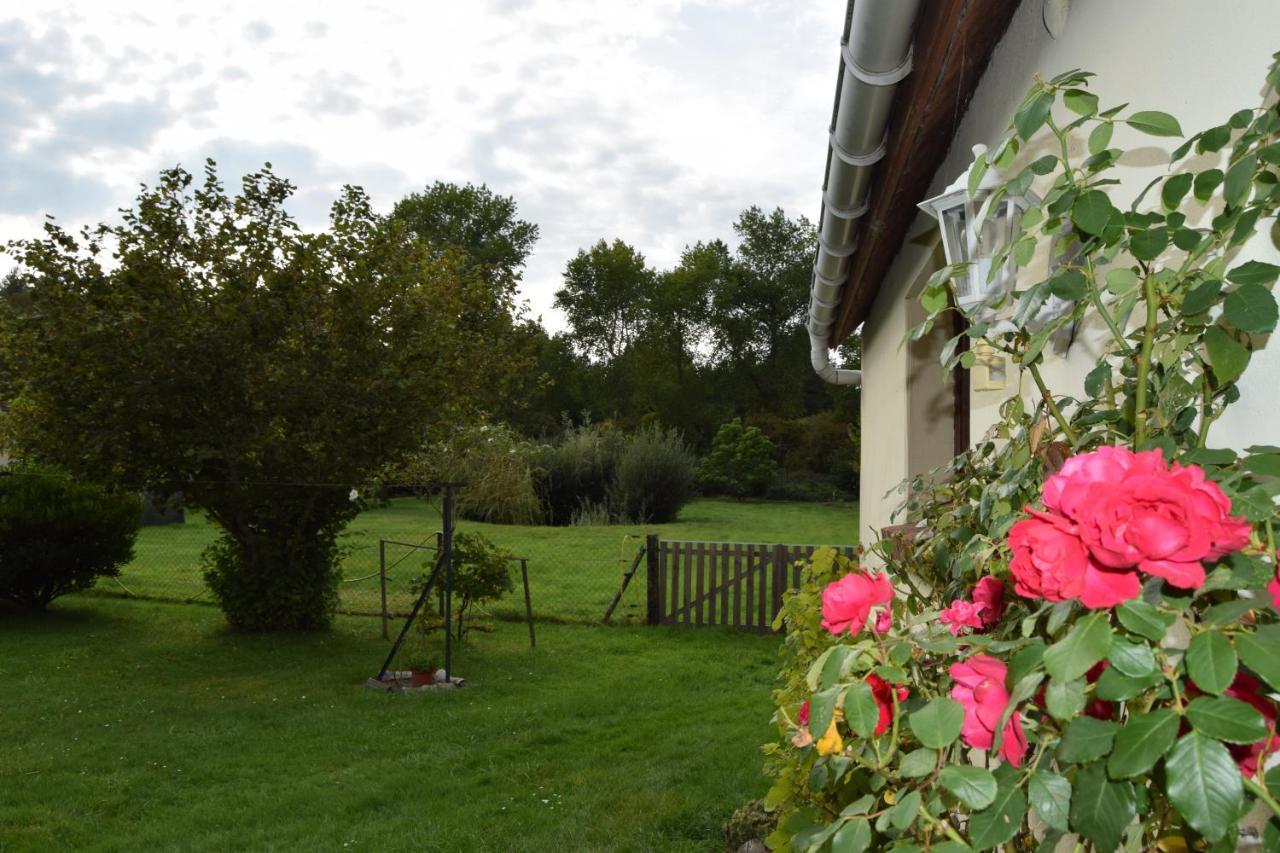
{"label": "low dark rounded bush at the left edge of the lawn", "polygon": [[35,467],[0,474],[0,598],[45,607],[119,575],[141,517],[133,496]]}

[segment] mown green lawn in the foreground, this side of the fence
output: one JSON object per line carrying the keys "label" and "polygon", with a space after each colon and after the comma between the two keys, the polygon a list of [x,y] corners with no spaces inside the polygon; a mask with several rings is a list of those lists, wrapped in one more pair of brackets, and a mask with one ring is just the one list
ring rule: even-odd
{"label": "mown green lawn in the foreground, this side of the fence", "polygon": [[767,788],[777,637],[499,622],[462,690],[388,695],[376,629],[0,611],[0,850],[716,850]]}

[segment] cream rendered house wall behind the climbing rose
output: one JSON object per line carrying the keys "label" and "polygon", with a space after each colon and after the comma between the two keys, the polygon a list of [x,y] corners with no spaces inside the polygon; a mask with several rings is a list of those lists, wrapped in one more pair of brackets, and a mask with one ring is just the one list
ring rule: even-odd
{"label": "cream rendered house wall behind the climbing rose", "polygon": [[[1221,124],[1234,110],[1256,106],[1262,77],[1271,54],[1280,49],[1280,3],[1275,0],[1074,0],[1065,29],[1050,37],[1042,23],[1042,0],[1024,0],[992,55],[969,110],[955,136],[946,161],[934,175],[929,195],[940,192],[972,160],[972,146],[997,142],[1030,85],[1033,76],[1052,77],[1071,68],[1094,72],[1091,91],[1102,106],[1132,104],[1130,109],[1155,109],[1174,114],[1188,133]],[[1076,151],[1083,150],[1083,138]],[[1126,149],[1114,177],[1112,199],[1124,202],[1137,196],[1152,179],[1167,173],[1169,151],[1178,141],[1143,136],[1117,126],[1112,145]],[[1029,161],[1044,151],[1024,151]],[[1075,154],[1075,152],[1073,152]],[[1201,158],[1196,168],[1215,165]],[[1021,165],[1021,164],[1018,164]],[[1016,168],[1016,167],[1015,167]],[[1192,209],[1187,209],[1188,213]],[[1207,218],[1207,216],[1206,216]],[[900,494],[882,498],[901,479],[920,473],[909,448],[929,441],[936,423],[906,418],[913,409],[911,384],[902,380],[911,355],[899,348],[908,328],[911,286],[932,268],[929,245],[936,243],[934,222],[920,214],[882,284],[864,327],[863,423],[883,416],[896,426],[869,430],[864,426],[861,524],[868,529],[888,524]],[[1244,247],[1239,261],[1258,257],[1280,263],[1280,252],[1266,237]],[[1033,261],[1032,273],[1043,275],[1046,259]],[[1038,266],[1037,266],[1038,264]],[[1047,355],[1047,383],[1059,393],[1082,394],[1084,374],[1100,352],[1102,330],[1080,329],[1068,348],[1060,341]],[[883,375],[877,375],[883,374]],[[895,378],[897,379],[895,382]],[[1280,345],[1258,352],[1240,383],[1242,400],[1213,426],[1211,446],[1245,447],[1280,444]],[[1000,403],[1011,393],[1030,400],[1029,378],[1010,373],[1002,391],[974,391],[970,405],[970,435],[980,438],[998,416]],[[902,419],[906,418],[904,421]]]}

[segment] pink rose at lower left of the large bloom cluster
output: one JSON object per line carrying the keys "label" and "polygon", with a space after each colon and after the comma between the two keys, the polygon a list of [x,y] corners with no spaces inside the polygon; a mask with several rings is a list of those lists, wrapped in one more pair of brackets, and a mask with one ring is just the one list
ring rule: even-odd
{"label": "pink rose at lower left of the large bloom cluster", "polygon": [[1009,547],[1014,552],[1009,569],[1019,596],[1046,601],[1078,598],[1085,607],[1100,608],[1115,607],[1142,592],[1137,571],[1116,571],[1094,561],[1070,521],[1036,510],[1028,512],[1032,517],[1009,530]]}

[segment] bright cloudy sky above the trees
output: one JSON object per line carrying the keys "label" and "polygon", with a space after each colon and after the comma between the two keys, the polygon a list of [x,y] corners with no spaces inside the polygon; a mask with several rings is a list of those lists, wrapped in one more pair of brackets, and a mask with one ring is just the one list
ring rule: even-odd
{"label": "bright cloudy sky above the trees", "polygon": [[[817,216],[845,0],[0,0],[0,242],[113,220],[175,164],[264,161],[323,228],[485,183],[540,228],[524,296],[622,238],[658,268],[749,205]],[[0,259],[0,266],[10,261]]]}

